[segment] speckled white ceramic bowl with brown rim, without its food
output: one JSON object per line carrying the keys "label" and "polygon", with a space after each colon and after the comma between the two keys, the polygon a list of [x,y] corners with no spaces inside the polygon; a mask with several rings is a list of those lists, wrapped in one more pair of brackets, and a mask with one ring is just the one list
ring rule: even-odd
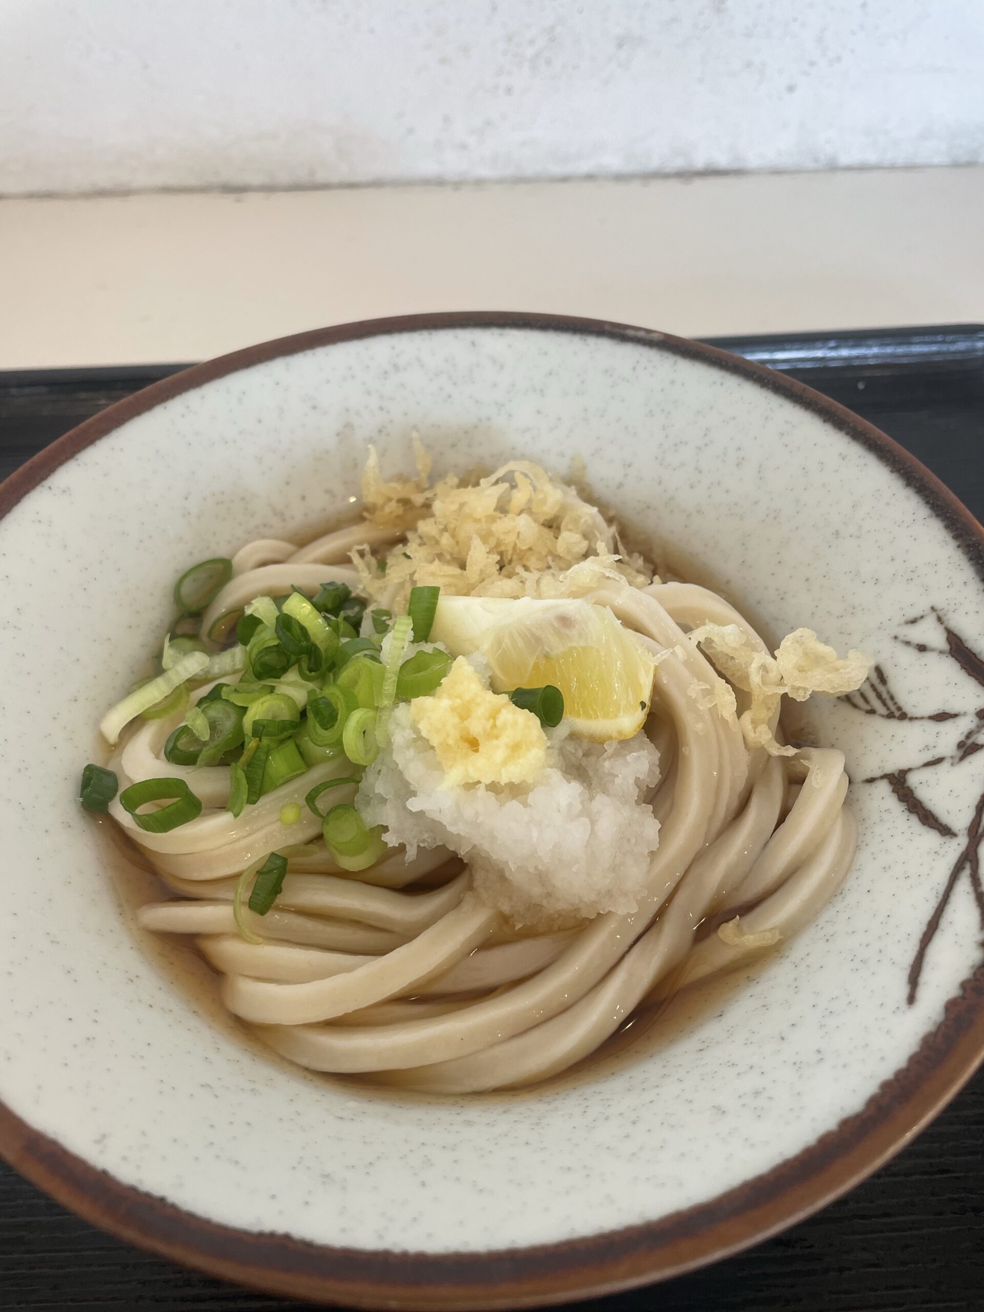
{"label": "speckled white ceramic bowl with brown rim, without its food", "polygon": [[[513,454],[676,543],[774,634],[876,665],[817,708],[861,844],[802,937],[661,1047],[537,1094],[365,1096],[190,1001],[131,933],[73,800],[176,568],[342,508],[366,443]],[[369,1307],[547,1303],[802,1218],[900,1148],[984,1044],[984,539],[911,457],[768,370],[576,319],[436,315],[159,383],[0,491],[0,1149],[180,1261]],[[112,643],[110,643],[112,639]]]}

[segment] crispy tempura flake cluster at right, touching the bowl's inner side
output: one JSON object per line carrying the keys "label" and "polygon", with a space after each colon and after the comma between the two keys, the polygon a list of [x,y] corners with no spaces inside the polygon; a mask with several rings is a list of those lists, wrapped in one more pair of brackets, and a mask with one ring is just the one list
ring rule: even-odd
{"label": "crispy tempura flake cluster at right, touching the bowl's inner side", "polygon": [[[795,748],[781,747],[773,736],[773,715],[783,695],[806,702],[813,693],[829,697],[853,693],[867,678],[871,664],[859,651],[838,657],[812,628],[796,628],[787,634],[774,656],[757,651],[739,625],[702,625],[687,636],[694,646],[706,647],[707,656],[724,678],[750,693],[752,705],[739,724],[748,745],[764,747],[770,756],[795,753]],[[733,720],[737,711],[735,694],[728,698],[719,689],[714,693],[720,714]]]}

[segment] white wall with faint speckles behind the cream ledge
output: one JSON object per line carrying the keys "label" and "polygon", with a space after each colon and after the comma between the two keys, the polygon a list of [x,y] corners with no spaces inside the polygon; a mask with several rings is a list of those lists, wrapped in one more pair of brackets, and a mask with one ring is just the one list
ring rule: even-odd
{"label": "white wall with faint speckles behind the cream ledge", "polygon": [[0,0],[0,193],[984,160],[984,0]]}

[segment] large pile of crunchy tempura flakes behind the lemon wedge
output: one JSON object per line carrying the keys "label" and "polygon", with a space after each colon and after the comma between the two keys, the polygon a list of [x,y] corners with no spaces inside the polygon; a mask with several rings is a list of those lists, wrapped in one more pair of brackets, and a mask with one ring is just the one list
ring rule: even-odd
{"label": "large pile of crunchy tempura flakes behind the lemon wedge", "polygon": [[416,440],[415,455],[416,479],[386,482],[370,447],[366,518],[407,529],[384,560],[366,548],[352,555],[374,600],[403,609],[419,584],[451,596],[576,597],[605,579],[651,581],[643,559],[622,551],[601,513],[538,464],[509,461],[474,484],[449,474],[428,489],[430,461]]}

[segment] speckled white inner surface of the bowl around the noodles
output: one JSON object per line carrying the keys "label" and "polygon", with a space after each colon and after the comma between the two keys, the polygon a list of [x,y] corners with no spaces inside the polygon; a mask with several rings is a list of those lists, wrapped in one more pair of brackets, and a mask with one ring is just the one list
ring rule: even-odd
{"label": "speckled white inner surface of the bowl around the noodles", "polygon": [[[951,752],[979,705],[953,661],[893,639],[935,604],[980,646],[980,580],[946,526],[766,388],[631,336],[500,329],[232,374],[87,449],[0,521],[0,640],[20,693],[0,798],[0,1098],[126,1182],[316,1241],[474,1252],[655,1219],[833,1128],[938,1022],[980,959],[966,880],[912,1008],[905,972],[960,838],[922,828],[887,785],[855,783],[845,888],[720,1012],[604,1080],[433,1105],[287,1071],[189,1008],[126,932],[72,796],[100,711],[167,622],[176,567],[338,505],[366,441],[405,466],[415,429],[442,468],[584,457],[600,497],[715,568],[773,631],[815,623],[880,660],[912,712],[963,712],[892,723],[828,703],[824,737],[855,779]],[[41,606],[71,617],[43,661]],[[934,775],[930,802],[956,830],[980,760]]]}

